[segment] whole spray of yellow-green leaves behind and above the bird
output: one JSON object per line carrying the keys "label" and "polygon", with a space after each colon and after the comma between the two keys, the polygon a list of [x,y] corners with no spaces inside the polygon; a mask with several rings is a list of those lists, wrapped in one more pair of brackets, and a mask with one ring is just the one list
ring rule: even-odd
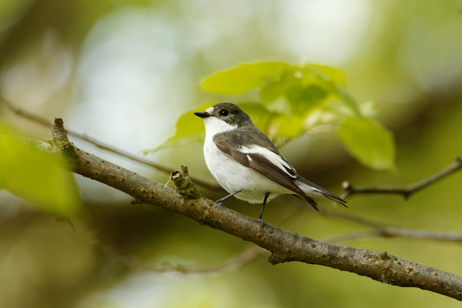
{"label": "whole spray of yellow-green leaves behind and above the bird", "polygon": [[[219,94],[239,94],[259,87],[261,103],[236,104],[278,147],[315,128],[319,132],[331,130],[339,119],[348,116],[339,129],[348,151],[371,168],[393,169],[393,137],[364,118],[353,97],[345,91],[345,84],[343,72],[330,66],[258,62],[212,74],[203,80],[201,88]],[[329,106],[333,101],[337,105]],[[195,111],[212,105],[207,103]],[[311,116],[316,111],[316,117]],[[180,117],[175,136],[151,151],[203,141],[205,128],[193,112]]]}

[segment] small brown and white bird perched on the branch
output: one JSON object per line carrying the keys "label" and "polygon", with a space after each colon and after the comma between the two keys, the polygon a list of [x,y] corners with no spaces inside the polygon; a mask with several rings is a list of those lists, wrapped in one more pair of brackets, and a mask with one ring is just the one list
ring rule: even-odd
{"label": "small brown and white bird perched on the branch", "polygon": [[[305,180],[282,157],[271,140],[255,127],[249,115],[232,103],[219,103],[204,112],[206,138],[204,157],[207,167],[221,187],[231,196],[249,203],[263,203],[282,193],[291,193],[318,210],[311,197],[333,200],[346,206],[343,199]],[[261,223],[263,220],[261,219]]]}

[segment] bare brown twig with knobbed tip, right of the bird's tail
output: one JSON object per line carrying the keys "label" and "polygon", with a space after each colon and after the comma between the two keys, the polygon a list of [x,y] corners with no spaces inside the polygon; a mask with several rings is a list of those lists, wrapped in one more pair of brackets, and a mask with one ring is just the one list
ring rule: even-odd
{"label": "bare brown twig with knobbed tip, right of the bird's tail", "polygon": [[444,177],[458,171],[462,168],[462,159],[456,157],[454,162],[446,169],[422,180],[417,183],[411,184],[407,187],[354,187],[348,181],[342,183],[344,193],[340,196],[342,199],[346,199],[353,194],[358,193],[389,193],[389,194],[401,194],[405,199],[409,198],[413,193],[433,184],[436,181],[443,179]]}

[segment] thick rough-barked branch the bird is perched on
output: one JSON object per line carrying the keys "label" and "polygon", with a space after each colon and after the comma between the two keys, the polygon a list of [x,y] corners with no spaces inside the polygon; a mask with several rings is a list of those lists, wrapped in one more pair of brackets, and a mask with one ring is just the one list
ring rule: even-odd
{"label": "thick rough-barked branch the bird is perched on", "polygon": [[[272,264],[299,261],[353,272],[401,287],[416,287],[462,301],[462,277],[398,258],[387,252],[353,248],[300,236],[232,211],[203,198],[189,180],[186,167],[171,176],[176,187],[137,175],[72,145],[65,135],[62,121],[52,122],[55,151],[71,163],[72,172],[89,177],[128,193],[140,202],[158,206],[188,217],[202,225],[219,229],[271,252]],[[72,151],[67,151],[72,150]]]}

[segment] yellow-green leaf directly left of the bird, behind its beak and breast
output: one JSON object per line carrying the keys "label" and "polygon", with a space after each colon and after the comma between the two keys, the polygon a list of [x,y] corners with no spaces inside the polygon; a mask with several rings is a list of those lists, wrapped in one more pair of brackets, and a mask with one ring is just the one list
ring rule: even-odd
{"label": "yellow-green leaf directly left of the bird, behind its beak and breast", "polygon": [[176,133],[163,144],[158,145],[152,149],[146,149],[142,152],[144,154],[159,151],[167,148],[174,148],[182,145],[186,145],[193,142],[200,142],[205,140],[205,127],[204,121],[201,121],[195,112],[205,111],[207,108],[215,105],[216,102],[207,102],[197,107],[194,110],[184,113],[178,121],[176,121]]}

